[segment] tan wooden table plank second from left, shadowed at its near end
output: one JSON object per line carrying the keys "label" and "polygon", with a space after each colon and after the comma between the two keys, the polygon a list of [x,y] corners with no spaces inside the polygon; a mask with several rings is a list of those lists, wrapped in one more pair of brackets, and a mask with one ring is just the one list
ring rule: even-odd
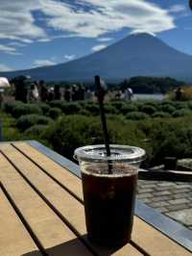
{"label": "tan wooden table plank second from left, shadowed at its near end", "polygon": [[0,180],[48,255],[92,255],[2,154]]}

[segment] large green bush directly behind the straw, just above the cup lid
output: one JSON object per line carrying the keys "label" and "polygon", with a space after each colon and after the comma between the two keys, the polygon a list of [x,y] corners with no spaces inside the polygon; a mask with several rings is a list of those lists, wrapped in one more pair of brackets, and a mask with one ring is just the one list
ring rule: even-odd
{"label": "large green bush directly behind the straw, just above the cup lid", "polygon": [[[119,117],[108,119],[108,130],[111,143],[136,144],[136,141],[144,139],[144,134],[138,131],[133,123],[128,124]],[[79,146],[104,143],[99,116],[65,115],[45,130],[43,139],[49,141],[57,152],[70,159],[74,149]]]}

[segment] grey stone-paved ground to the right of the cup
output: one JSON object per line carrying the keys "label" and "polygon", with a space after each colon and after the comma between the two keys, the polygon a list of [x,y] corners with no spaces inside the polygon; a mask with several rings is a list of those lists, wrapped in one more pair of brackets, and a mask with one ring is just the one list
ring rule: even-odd
{"label": "grey stone-paved ground to the right of the cup", "polygon": [[192,183],[138,181],[137,199],[192,230]]}

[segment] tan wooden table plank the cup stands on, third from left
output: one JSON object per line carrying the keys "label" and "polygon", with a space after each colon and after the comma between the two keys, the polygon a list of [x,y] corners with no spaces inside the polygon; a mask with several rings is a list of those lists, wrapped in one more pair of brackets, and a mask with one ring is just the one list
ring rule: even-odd
{"label": "tan wooden table plank the cup stands on, third from left", "polygon": [[[84,237],[86,234],[84,205],[69,192],[63,190],[60,185],[50,179],[49,176],[44,174],[44,172],[42,172],[30,160],[14,149],[12,145],[3,144],[0,148],[8,158],[12,159],[12,163],[32,182],[36,189],[42,193],[54,208],[60,212],[62,217],[67,219],[71,226],[76,228],[81,237]],[[131,244],[127,244],[124,247],[125,253],[122,254],[122,250],[113,251],[100,248],[89,243],[86,239],[85,243],[88,243],[93,250],[98,251],[99,255],[143,255]]]}

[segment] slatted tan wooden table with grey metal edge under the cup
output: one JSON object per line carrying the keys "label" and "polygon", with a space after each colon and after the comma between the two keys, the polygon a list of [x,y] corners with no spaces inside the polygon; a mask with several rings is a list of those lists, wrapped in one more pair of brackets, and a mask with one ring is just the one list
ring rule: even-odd
{"label": "slatted tan wooden table with grey metal edge under the cup", "polygon": [[192,255],[192,232],[139,201],[132,243],[89,243],[79,177],[79,166],[36,141],[1,143],[0,256]]}

